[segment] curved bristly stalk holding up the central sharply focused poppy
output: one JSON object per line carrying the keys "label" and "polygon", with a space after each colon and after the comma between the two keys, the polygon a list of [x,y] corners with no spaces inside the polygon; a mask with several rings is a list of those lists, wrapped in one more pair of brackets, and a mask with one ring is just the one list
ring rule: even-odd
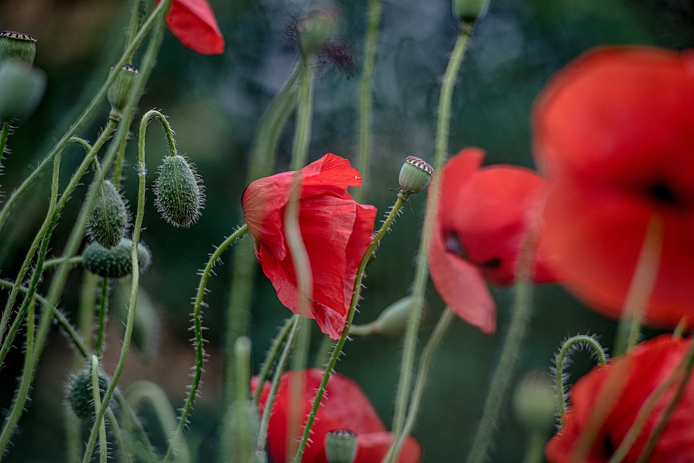
{"label": "curved bristly stalk holding up the central sharply focused poppy", "polygon": [[200,283],[198,283],[198,292],[195,297],[195,302],[193,304],[193,320],[194,320],[194,331],[195,331],[195,372],[193,374],[193,381],[190,385],[189,394],[183,405],[183,410],[181,411],[180,418],[178,419],[178,427],[176,428],[176,433],[169,440],[169,449],[164,457],[164,462],[171,460],[178,449],[178,444],[183,436],[183,430],[185,429],[188,415],[193,407],[193,402],[195,401],[195,396],[198,392],[198,387],[200,386],[200,378],[203,372],[203,362],[205,360],[205,351],[203,344],[203,325],[201,320],[201,312],[203,307],[203,298],[205,297],[205,288],[207,287],[208,279],[210,279],[210,274],[212,274],[212,269],[214,265],[221,259],[222,254],[226,249],[232,245],[237,239],[242,238],[248,231],[248,225],[244,224],[239,227],[234,233],[232,233],[226,240],[224,240],[219,247],[212,253],[210,260],[207,265],[205,265],[205,270],[203,270]]}

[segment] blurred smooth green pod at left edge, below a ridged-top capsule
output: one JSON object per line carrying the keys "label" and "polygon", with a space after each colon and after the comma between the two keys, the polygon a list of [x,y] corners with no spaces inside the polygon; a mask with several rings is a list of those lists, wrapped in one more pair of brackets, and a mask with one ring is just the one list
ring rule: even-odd
{"label": "blurred smooth green pod at left edge, below a ridged-top capsule", "polygon": [[34,112],[46,91],[46,75],[17,60],[0,62],[0,122],[24,119]]}

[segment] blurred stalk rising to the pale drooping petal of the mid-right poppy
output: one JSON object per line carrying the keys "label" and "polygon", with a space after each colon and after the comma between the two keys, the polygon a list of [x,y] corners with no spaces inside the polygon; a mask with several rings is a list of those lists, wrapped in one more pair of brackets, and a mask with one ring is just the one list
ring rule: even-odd
{"label": "blurred stalk rising to the pale drooping petal of the mid-right poppy", "polygon": [[395,455],[400,455],[400,448],[403,447],[405,439],[409,433],[412,432],[414,423],[417,419],[417,414],[419,412],[419,405],[422,399],[422,394],[424,392],[424,386],[427,382],[427,374],[429,372],[429,367],[434,358],[434,351],[439,346],[439,342],[446,333],[450,322],[455,318],[455,314],[450,310],[450,307],[446,309],[441,314],[439,322],[434,327],[434,331],[430,336],[427,344],[424,346],[422,351],[422,356],[419,360],[419,372],[417,374],[417,379],[414,383],[414,390],[412,391],[412,400],[409,403],[409,410],[407,412],[407,420],[405,421],[405,427],[403,428],[403,433],[398,436],[397,439],[393,439],[393,444],[388,450],[388,454],[384,457],[384,460],[388,461],[392,459]]}

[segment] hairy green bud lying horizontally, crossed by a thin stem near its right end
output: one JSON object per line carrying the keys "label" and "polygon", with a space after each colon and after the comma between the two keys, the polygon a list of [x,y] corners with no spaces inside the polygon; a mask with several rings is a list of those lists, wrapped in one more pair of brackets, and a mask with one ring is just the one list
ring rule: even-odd
{"label": "hairy green bud lying horizontally, crossed by a thin stem near its right end", "polygon": [[[82,253],[85,268],[99,277],[126,277],[133,273],[133,263],[130,260],[132,246],[133,242],[128,238],[121,239],[121,242],[111,249],[106,249],[99,243],[90,243]],[[152,261],[152,254],[142,243],[137,245],[137,261],[141,272],[147,270]]]}

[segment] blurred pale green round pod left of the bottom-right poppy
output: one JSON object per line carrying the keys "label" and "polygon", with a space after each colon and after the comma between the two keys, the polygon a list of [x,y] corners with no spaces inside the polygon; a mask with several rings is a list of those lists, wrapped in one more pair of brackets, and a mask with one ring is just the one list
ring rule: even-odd
{"label": "blurred pale green round pod left of the bottom-right poppy", "polygon": [[557,417],[556,394],[546,372],[530,372],[514,392],[516,418],[527,430],[546,433]]}

